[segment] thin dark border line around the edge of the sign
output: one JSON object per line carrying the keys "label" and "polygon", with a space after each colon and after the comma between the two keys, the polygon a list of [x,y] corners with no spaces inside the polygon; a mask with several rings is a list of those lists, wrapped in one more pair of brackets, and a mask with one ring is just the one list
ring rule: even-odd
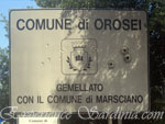
{"label": "thin dark border line around the edge of the sign", "polygon": [[[145,12],[146,15],[146,35],[147,35],[147,93],[148,93],[148,108],[147,111],[151,111],[151,83],[150,83],[150,33],[148,33],[148,15],[147,15],[147,11],[146,10],[136,10],[136,9],[109,9],[109,8],[91,8],[91,9],[78,9],[78,8],[70,8],[70,9],[62,9],[62,8],[47,8],[47,9],[11,9],[9,11],[9,105],[11,106],[11,13],[13,11],[40,11],[40,10],[109,10],[109,11],[142,11]],[[142,112],[146,112],[146,111],[141,111]],[[77,112],[73,112],[74,114],[76,114]]]}

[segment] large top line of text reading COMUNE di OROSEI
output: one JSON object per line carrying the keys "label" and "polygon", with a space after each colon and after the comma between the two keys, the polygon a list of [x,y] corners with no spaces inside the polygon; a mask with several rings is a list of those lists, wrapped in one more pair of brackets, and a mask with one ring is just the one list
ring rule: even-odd
{"label": "large top line of text reading COMUNE di OROSEI", "polygon": [[[86,24],[86,29],[95,27],[95,30],[113,30],[113,31],[141,31],[142,21],[140,19],[95,19],[92,22],[90,19],[81,19],[80,23]],[[90,22],[90,24],[89,24]],[[18,19],[15,26],[19,31],[38,31],[38,30],[73,30],[75,22],[72,19]]]}

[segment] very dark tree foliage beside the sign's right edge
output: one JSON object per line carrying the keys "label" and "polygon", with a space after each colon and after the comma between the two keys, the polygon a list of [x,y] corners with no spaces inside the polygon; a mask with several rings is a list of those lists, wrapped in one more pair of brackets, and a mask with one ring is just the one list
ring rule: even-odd
{"label": "very dark tree foliage beside the sign's right edge", "polygon": [[165,110],[165,1],[147,0],[152,110]]}

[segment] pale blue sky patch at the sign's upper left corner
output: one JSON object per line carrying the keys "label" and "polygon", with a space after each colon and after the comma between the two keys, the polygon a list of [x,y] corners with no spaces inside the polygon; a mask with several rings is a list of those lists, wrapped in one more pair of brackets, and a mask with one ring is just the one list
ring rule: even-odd
{"label": "pale blue sky patch at the sign's upper left corner", "polygon": [[[38,8],[34,0],[1,0],[0,1],[0,14],[2,13],[7,20],[9,20],[10,9],[26,9],[26,7]],[[0,16],[0,20],[2,18]],[[4,48],[9,46],[9,40],[4,35],[7,34],[4,30],[4,24],[0,22],[0,47]]]}

